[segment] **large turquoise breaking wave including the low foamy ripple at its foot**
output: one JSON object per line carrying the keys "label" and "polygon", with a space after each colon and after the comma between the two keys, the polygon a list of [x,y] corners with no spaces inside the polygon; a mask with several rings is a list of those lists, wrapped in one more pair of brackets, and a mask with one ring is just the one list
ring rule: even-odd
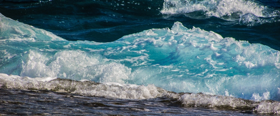
{"label": "large turquoise breaking wave including the low foamy ripple at its foot", "polygon": [[109,43],[67,41],[0,18],[1,87],[280,112],[280,52],[268,46],[180,22]]}

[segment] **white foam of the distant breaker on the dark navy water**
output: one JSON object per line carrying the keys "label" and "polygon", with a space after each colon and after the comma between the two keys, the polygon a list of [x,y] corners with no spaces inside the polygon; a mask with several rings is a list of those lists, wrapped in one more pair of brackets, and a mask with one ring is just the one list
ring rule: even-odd
{"label": "white foam of the distant breaker on the dark navy water", "polygon": [[272,17],[276,14],[265,14],[267,6],[255,1],[245,0],[165,0],[162,14],[189,13],[194,11],[205,11],[209,16],[222,17],[233,13],[251,13],[257,17]]}

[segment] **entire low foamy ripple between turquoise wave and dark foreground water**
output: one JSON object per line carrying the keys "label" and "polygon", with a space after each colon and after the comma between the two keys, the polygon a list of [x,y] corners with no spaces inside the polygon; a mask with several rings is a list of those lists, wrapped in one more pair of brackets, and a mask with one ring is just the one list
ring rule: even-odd
{"label": "entire low foamy ripple between turquoise wave and dark foreground water", "polygon": [[222,110],[252,111],[259,114],[280,114],[280,102],[262,100],[260,102],[222,95],[203,93],[175,93],[156,87],[97,83],[94,81],[60,79],[53,77],[30,78],[0,73],[0,87],[27,90],[51,90],[83,96],[106,96],[119,99],[151,99],[168,97],[179,101],[185,107],[216,108]]}

